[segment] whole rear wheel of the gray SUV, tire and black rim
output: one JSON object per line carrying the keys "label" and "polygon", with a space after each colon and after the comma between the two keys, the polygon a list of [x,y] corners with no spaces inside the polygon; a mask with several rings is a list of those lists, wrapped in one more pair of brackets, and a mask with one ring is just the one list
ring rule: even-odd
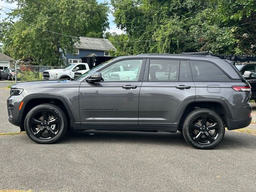
{"label": "whole rear wheel of the gray SUV, tire and black rim", "polygon": [[225,127],[221,117],[208,109],[197,109],[184,120],[182,133],[191,146],[212,149],[222,141]]}

